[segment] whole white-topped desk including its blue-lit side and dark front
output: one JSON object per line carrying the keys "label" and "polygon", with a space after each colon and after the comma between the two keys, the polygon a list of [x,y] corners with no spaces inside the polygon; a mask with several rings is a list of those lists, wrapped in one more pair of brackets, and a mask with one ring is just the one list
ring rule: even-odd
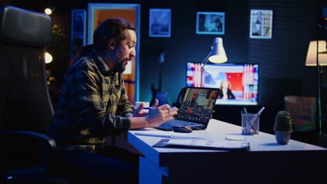
{"label": "whole white-topped desk including its blue-lit side and dark front", "polygon": [[[136,132],[143,132],[143,133],[155,134],[155,135],[179,135],[179,136],[186,136],[186,137],[201,137],[204,139],[212,139],[217,141],[225,140],[226,135],[238,135],[238,136],[245,137],[247,141],[249,141],[251,151],[249,152],[249,154],[244,154],[243,156],[237,155],[235,157],[235,154],[233,154],[235,152],[231,154],[225,154],[226,151],[184,149],[184,148],[157,148],[152,146],[154,144],[157,144],[157,142],[160,141],[161,139],[165,139],[165,138],[134,135]],[[143,153],[143,155],[145,155],[144,158],[140,157],[140,174],[139,174],[140,183],[184,183],[184,177],[183,177],[184,174],[192,174],[192,172],[194,172],[195,170],[196,172],[202,171],[204,168],[208,168],[209,164],[211,164],[211,167],[215,167],[216,169],[220,168],[220,167],[216,167],[219,164],[224,165],[224,167],[222,168],[231,167],[230,169],[232,169],[234,167],[233,166],[234,164],[229,164],[230,161],[228,160],[234,160],[234,161],[238,160],[235,162],[247,163],[248,162],[247,159],[252,158],[252,160],[254,160],[254,157],[256,158],[255,160],[258,160],[256,161],[258,168],[254,167],[252,168],[252,170],[256,169],[255,172],[258,172],[259,175],[262,177],[263,176],[266,177],[267,168],[269,169],[271,167],[271,169],[268,172],[272,172],[272,173],[275,172],[275,174],[273,174],[273,176],[275,176],[277,174],[276,172],[280,170],[280,169],[278,170],[277,168],[281,167],[281,168],[289,169],[289,162],[298,162],[296,161],[298,159],[305,160],[305,158],[308,158],[310,156],[312,157],[316,154],[316,153],[312,153],[311,151],[324,151],[324,153],[317,153],[317,156],[314,156],[314,158],[320,161],[321,159],[324,158],[324,155],[326,154],[325,151],[327,150],[326,148],[321,148],[319,146],[305,144],[303,142],[294,141],[294,140],[290,140],[289,144],[286,145],[277,144],[275,135],[270,135],[264,132],[259,132],[259,135],[241,135],[240,132],[241,132],[241,127],[238,125],[233,125],[230,123],[225,123],[223,121],[211,119],[208,128],[206,130],[194,130],[191,133],[177,133],[173,131],[162,131],[152,128],[145,128],[144,130],[130,130],[128,132],[127,139],[130,144],[132,144],[135,148],[138,149],[138,151],[140,151],[141,153]],[[286,151],[286,153],[289,154],[285,154],[280,151]],[[205,160],[203,159],[198,161],[193,160],[191,164],[180,164],[180,162],[182,162],[183,160],[187,160],[186,158],[189,159],[193,158],[194,153],[196,153],[196,155],[198,154],[201,155],[201,158],[205,158]],[[262,153],[263,155],[265,155],[264,157],[261,156],[257,157],[257,155],[262,155]],[[312,154],[312,155],[307,156],[308,154]],[[294,155],[296,155],[296,159],[294,159]],[[244,157],[246,157],[247,159],[245,159]],[[183,159],[178,159],[178,158],[183,158]],[[275,162],[277,162],[277,164],[275,164]],[[238,164],[238,167],[240,168],[245,167],[247,164],[244,163]],[[285,163],[287,167],[286,165],[284,165]],[[205,164],[204,167],[203,164]],[[305,164],[307,164],[307,167],[312,167],[312,164],[314,164],[314,162],[310,160],[305,162]],[[266,167],[266,165],[270,165],[270,167]],[[272,167],[274,165],[276,165],[276,167]],[[300,167],[297,167],[296,165],[297,164],[295,163],[291,164],[291,166],[293,166],[292,167],[293,172],[300,173],[300,171],[303,171],[303,169],[300,169]],[[261,167],[266,169],[262,169]],[[194,168],[198,168],[198,169],[194,170]],[[199,170],[199,168],[202,169]],[[247,167],[243,169],[246,170]],[[284,170],[288,171],[287,169]],[[219,176],[221,177],[219,177],[219,181],[223,183],[224,181],[226,181],[226,183],[227,182],[229,183],[231,181],[231,178],[234,178],[235,181],[238,180],[237,177],[236,178],[234,177],[233,172],[226,172],[224,171],[224,169],[221,171],[219,169],[217,169],[217,171],[209,170],[211,171],[211,173],[208,173],[208,169],[204,169],[204,170],[205,172],[203,174],[205,174],[206,176],[210,176],[205,178],[205,180],[210,183],[212,183],[212,180],[215,180],[215,176],[217,175],[217,173],[220,173]],[[238,175],[241,174],[242,172],[238,173]],[[163,179],[163,176],[166,176],[166,179]],[[303,178],[305,178],[307,174],[301,174],[300,176],[303,176]],[[298,181],[302,181],[303,178],[299,178]],[[261,179],[265,179],[265,178],[263,177]],[[203,177],[201,177],[201,179],[198,179],[198,181],[194,180],[194,178],[191,177],[191,179],[189,179],[188,182],[189,183],[203,182]]]}

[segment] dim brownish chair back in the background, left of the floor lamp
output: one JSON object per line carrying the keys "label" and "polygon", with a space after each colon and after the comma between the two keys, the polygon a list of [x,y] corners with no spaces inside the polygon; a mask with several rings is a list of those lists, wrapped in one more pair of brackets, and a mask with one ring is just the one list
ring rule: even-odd
{"label": "dim brownish chair back in the background, left of the floor lamp", "polygon": [[286,95],[285,111],[291,115],[293,130],[303,132],[314,130],[316,117],[316,98]]}

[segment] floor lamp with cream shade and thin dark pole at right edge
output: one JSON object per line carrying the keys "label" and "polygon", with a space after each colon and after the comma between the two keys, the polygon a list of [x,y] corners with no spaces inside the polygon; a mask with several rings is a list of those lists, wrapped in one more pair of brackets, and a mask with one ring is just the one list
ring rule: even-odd
{"label": "floor lamp with cream shade and thin dark pole at right edge", "polygon": [[[323,72],[322,67],[327,66],[327,48],[326,40],[314,40],[310,42],[307,49],[307,59],[305,66],[317,66],[317,107],[318,107],[318,125],[319,134],[321,134],[321,92],[320,92],[320,77]],[[319,72],[319,68],[321,69]]]}

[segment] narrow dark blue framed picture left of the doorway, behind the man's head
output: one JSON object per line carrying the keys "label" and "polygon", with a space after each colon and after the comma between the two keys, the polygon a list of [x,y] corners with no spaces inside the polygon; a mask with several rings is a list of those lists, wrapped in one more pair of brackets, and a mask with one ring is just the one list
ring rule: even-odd
{"label": "narrow dark blue framed picture left of the doorway, behind the man's head", "polygon": [[86,10],[71,10],[71,57],[86,44]]}

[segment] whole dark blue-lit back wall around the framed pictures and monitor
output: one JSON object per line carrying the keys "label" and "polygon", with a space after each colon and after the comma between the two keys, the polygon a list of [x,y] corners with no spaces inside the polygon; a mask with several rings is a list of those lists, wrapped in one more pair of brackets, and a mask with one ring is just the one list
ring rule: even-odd
{"label": "whole dark blue-lit back wall around the framed pictures and monitor", "polygon": [[[12,1],[14,6],[43,11],[47,5],[56,6],[54,23],[61,23],[69,46],[71,9],[87,9],[88,2],[140,3],[140,101],[150,101],[151,84],[159,80],[159,54],[165,52],[163,63],[163,89],[168,90],[172,104],[185,86],[188,61],[201,62],[210,52],[215,37],[224,40],[228,62],[259,63],[259,105],[283,109],[284,95],[314,96],[317,89],[317,69],[305,66],[310,40],[326,40],[326,30],[317,29],[322,16],[323,0],[190,0],[190,1]],[[38,6],[36,6],[38,4]],[[170,38],[149,37],[149,8],[171,8],[172,30]],[[273,38],[249,38],[249,12],[251,9],[273,10]],[[196,34],[196,12],[224,12],[224,35]],[[66,72],[67,61],[59,61],[59,77]],[[158,87],[156,85],[156,87]],[[219,107],[224,108],[224,107]]]}

